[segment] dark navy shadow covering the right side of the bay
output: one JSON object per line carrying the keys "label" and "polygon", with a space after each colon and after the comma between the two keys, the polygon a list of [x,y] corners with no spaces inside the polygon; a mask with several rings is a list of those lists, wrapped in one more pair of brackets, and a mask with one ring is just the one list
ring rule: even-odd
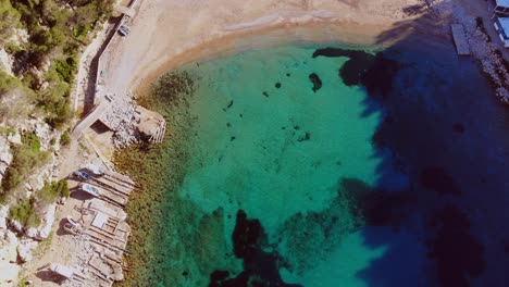
{"label": "dark navy shadow covering the right side of the bay", "polygon": [[[394,42],[390,48],[369,61],[362,52],[349,54],[344,67],[357,70],[339,70],[346,84],[367,87],[365,115],[382,109],[385,116],[373,136],[383,160],[373,189],[390,182],[386,165],[395,158],[400,166],[393,167],[409,180],[406,190],[375,192],[383,196],[372,203],[359,199],[367,225],[388,228],[362,230],[367,247],[385,252],[357,276],[368,286],[507,286],[506,111],[472,59],[457,59],[448,39],[414,32],[444,29],[449,20],[427,5],[404,12],[421,16],[378,36],[378,43]],[[409,47],[415,52],[406,53]],[[387,59],[404,60],[397,66]],[[343,183],[352,184],[362,183]]]}

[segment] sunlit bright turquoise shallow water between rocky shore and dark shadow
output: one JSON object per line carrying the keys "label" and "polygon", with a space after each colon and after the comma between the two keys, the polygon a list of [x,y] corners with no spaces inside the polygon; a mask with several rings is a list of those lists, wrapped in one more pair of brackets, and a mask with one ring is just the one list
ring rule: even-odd
{"label": "sunlit bright turquoise shallow water between rocky shore and dark shadow", "polygon": [[[198,78],[189,107],[196,137],[190,172],[178,192],[206,212],[224,210],[229,249],[238,210],[260,220],[266,244],[290,262],[289,269],[301,269],[287,275],[306,286],[323,286],[312,284],[312,274],[331,272],[327,261],[343,261],[345,250],[356,249],[328,284],[363,286],[356,272],[383,248],[363,248],[356,234],[348,238],[358,226],[348,201],[337,198],[342,178],[377,183],[381,159],[371,138],[382,112],[365,114],[365,89],[347,87],[338,77],[347,58],[311,59],[313,51],[250,51],[188,70]],[[322,80],[316,91],[312,73]],[[310,212],[337,221],[324,226],[296,217]],[[301,228],[310,235],[301,236]],[[323,245],[330,250],[324,252]]]}

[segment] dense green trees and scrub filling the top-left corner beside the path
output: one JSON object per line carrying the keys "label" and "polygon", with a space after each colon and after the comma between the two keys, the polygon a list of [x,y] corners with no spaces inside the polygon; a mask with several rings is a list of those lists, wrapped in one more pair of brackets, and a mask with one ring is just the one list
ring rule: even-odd
{"label": "dense green trees and scrub filling the top-left corner beside the path", "polygon": [[[78,68],[78,49],[111,14],[113,0],[0,0],[0,47],[14,57],[13,72],[23,80],[0,74],[0,99],[16,86],[26,88],[46,112],[48,124],[61,128],[73,115],[70,85]],[[9,37],[26,29],[29,40],[16,46]],[[34,71],[42,73],[35,73]],[[1,73],[1,72],[0,72]],[[42,75],[42,76],[41,76]],[[3,111],[5,113],[7,111]],[[2,116],[0,109],[0,121]]]}

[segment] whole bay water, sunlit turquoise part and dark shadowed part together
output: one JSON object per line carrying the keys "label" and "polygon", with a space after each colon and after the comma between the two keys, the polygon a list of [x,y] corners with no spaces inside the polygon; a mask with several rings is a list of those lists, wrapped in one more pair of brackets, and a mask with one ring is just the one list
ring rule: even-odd
{"label": "whole bay water, sunlit turquoise part and dark shadowed part together", "polygon": [[193,118],[190,157],[167,213],[198,224],[160,244],[184,249],[160,271],[183,277],[163,282],[502,286],[491,258],[505,235],[486,246],[485,223],[508,216],[495,200],[507,118],[474,63],[447,45],[313,57],[325,47],[181,67],[195,80],[179,107]]}

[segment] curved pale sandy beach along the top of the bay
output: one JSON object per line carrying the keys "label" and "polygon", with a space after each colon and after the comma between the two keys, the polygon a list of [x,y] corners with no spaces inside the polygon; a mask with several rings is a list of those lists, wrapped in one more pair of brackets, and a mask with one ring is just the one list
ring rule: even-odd
{"label": "curved pale sandy beach along the top of the bay", "polygon": [[[142,93],[162,73],[218,53],[295,41],[373,45],[397,23],[421,15],[419,0],[141,1],[128,37],[112,42],[108,91]],[[319,28],[316,27],[319,26]],[[257,37],[258,35],[258,37]],[[252,38],[254,37],[254,38]],[[249,40],[243,40],[249,38]],[[389,45],[389,43],[384,43]]]}

